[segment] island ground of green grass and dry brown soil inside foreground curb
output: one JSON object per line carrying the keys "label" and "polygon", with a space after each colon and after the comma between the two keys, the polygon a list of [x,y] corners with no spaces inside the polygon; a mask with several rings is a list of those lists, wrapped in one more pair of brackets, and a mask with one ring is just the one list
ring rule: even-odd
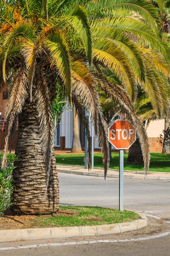
{"label": "island ground of green grass and dry brown soil inside foreground curb", "polygon": [[3,215],[0,217],[0,230],[75,227],[116,224],[135,221],[139,215],[134,212],[119,212],[118,209],[103,207],[60,206],[59,212],[52,215]]}

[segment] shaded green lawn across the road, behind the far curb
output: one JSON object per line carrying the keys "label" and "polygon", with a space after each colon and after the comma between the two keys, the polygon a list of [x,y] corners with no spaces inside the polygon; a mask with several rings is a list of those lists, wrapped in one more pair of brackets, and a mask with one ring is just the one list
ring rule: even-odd
{"label": "shaded green lawn across the road, behind the far curb", "polygon": [[[131,171],[142,171],[141,164],[127,164],[128,154],[124,154],[124,169]],[[84,166],[84,154],[56,155],[57,164]],[[94,154],[94,167],[103,167],[102,154]],[[112,162],[109,168],[119,169],[119,153],[112,153]],[[170,159],[161,153],[151,153],[150,172],[170,172]]]}

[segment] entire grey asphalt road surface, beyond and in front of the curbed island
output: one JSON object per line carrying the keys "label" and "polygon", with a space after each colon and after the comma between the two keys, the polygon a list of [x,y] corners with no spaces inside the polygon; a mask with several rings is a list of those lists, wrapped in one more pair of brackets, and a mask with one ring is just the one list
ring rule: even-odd
{"label": "entire grey asphalt road surface, beyond and in front of the curbed island", "polygon": [[[104,180],[98,177],[60,173],[59,186],[61,205],[119,207],[118,179]],[[154,236],[170,231],[170,180],[125,180],[124,206],[125,209],[159,216],[161,220],[148,217],[147,228],[119,235],[1,243],[0,247],[29,245],[30,248],[3,250],[0,251],[0,256],[169,256],[170,235],[160,238]],[[153,238],[150,239],[150,236]],[[146,240],[147,237],[149,239]],[[134,238],[139,240],[125,241]],[[94,242],[97,239],[121,239],[122,242]],[[89,241],[89,243],[31,247],[33,244],[71,241]]]}

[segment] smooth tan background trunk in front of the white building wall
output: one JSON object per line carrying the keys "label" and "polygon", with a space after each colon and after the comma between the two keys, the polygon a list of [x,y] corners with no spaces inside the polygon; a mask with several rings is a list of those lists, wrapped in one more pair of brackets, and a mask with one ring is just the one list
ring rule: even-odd
{"label": "smooth tan background trunk in front of the white building wall", "polygon": [[82,153],[82,147],[79,140],[79,120],[75,110],[73,110],[73,144],[71,152]]}

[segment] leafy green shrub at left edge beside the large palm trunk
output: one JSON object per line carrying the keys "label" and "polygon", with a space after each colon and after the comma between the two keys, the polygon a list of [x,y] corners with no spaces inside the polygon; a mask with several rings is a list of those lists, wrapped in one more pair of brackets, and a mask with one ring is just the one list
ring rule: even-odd
{"label": "leafy green shrub at left edge beside the large palm trunk", "polygon": [[3,152],[0,152],[0,215],[11,205],[11,195],[13,192],[12,171],[14,161],[17,160],[15,154],[7,155],[6,169],[2,170]]}

